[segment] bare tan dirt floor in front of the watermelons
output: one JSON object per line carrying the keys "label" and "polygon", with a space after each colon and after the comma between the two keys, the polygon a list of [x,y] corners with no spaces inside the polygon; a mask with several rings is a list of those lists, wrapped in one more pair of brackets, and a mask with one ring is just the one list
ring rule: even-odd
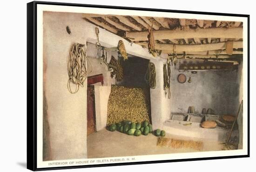
{"label": "bare tan dirt floor in front of the watermelons", "polygon": [[[96,133],[90,134],[87,140],[88,158],[104,158],[104,157],[120,157],[120,156],[136,156],[136,155],[152,155],[164,153],[187,153],[198,152],[192,148],[173,148],[156,146],[157,138],[153,134],[139,137],[120,133],[118,131],[110,132],[102,129]],[[166,135],[165,138],[191,140],[174,135]],[[218,142],[202,141],[201,151],[218,151],[223,150],[223,144]]]}

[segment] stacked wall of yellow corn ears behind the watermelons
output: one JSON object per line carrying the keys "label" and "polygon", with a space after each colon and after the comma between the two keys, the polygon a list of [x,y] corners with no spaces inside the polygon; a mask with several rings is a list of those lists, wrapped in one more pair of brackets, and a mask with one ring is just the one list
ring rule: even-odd
{"label": "stacked wall of yellow corn ears behind the watermelons", "polygon": [[130,120],[149,121],[149,97],[142,88],[111,86],[108,99],[107,125]]}

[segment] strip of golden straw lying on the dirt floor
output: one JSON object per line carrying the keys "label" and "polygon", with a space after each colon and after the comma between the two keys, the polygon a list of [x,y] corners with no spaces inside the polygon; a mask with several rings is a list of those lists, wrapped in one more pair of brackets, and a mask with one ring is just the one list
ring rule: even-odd
{"label": "strip of golden straw lying on the dirt floor", "polygon": [[193,141],[193,140],[176,140],[165,137],[158,137],[156,146],[165,146],[177,148],[192,148],[198,151],[202,150],[203,143],[202,141]]}

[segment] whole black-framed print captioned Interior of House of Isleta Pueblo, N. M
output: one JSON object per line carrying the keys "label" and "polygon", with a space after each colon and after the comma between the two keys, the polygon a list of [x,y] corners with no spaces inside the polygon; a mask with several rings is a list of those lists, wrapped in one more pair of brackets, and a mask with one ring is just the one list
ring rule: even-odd
{"label": "whole black-framed print captioned Interior of House of Isleta Pueblo, N. M", "polygon": [[27,4],[27,168],[249,157],[249,15]]}

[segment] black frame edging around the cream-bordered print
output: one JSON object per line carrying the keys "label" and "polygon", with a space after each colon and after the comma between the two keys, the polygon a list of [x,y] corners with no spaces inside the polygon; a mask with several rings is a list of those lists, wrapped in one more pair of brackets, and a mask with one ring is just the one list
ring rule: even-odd
{"label": "black frame edging around the cream-bordered print", "polygon": [[[62,167],[37,167],[37,5],[58,5],[58,6],[81,6],[81,7],[100,7],[108,9],[126,9],[126,10],[141,10],[141,11],[154,11],[154,12],[170,12],[170,13],[189,13],[189,14],[206,14],[206,15],[222,15],[222,16],[236,16],[245,17],[248,19],[248,154],[237,156],[221,156],[221,157],[207,157],[207,158],[192,158],[192,159],[173,159],[173,160],[155,160],[143,162],[129,162],[129,163],[115,163],[115,164],[101,164],[101,165],[86,165],[86,166],[62,166]],[[152,9],[152,8],[137,8],[137,7],[124,7],[124,6],[102,6],[102,5],[88,5],[88,4],[73,4],[73,3],[60,3],[60,2],[45,2],[33,1],[27,3],[27,169],[33,171],[42,170],[57,170],[57,169],[72,169],[72,168],[88,168],[88,167],[101,167],[101,166],[125,166],[137,164],[152,164],[152,163],[166,163],[166,162],[180,162],[180,161],[195,161],[195,160],[208,160],[208,159],[231,159],[231,158],[246,158],[249,157],[249,15],[245,14],[231,14],[231,13],[208,13],[196,11],[180,11],[180,10],[165,10],[165,9]]]}

